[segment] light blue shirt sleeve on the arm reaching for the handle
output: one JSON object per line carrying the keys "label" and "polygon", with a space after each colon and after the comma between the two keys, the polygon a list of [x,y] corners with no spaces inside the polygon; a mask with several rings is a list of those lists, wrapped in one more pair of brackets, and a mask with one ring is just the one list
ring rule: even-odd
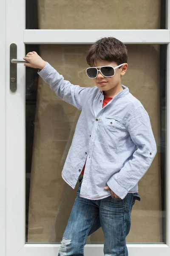
{"label": "light blue shirt sleeve on the arm reaching for the handle", "polygon": [[59,98],[82,110],[82,105],[86,98],[85,94],[92,89],[91,87],[85,88],[71,84],[69,81],[64,80],[63,76],[51,67],[49,63],[38,74],[50,85]]}

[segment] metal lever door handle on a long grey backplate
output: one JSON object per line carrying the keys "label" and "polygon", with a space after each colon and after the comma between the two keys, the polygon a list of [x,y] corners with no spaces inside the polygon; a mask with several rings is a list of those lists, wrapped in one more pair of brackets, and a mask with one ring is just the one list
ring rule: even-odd
{"label": "metal lever door handle on a long grey backplate", "polygon": [[17,63],[28,63],[25,60],[17,60],[17,45],[10,45],[10,90],[16,92],[17,90]]}

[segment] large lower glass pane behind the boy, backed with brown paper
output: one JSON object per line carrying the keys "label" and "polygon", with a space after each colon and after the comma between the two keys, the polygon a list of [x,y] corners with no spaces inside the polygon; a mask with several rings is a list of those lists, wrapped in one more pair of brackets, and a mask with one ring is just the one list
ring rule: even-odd
{"label": "large lower glass pane behind the boy, backed with brown paper", "polygon": [[[72,84],[93,86],[85,61],[88,45],[26,45]],[[122,83],[147,110],[158,153],[139,182],[127,242],[165,242],[166,46],[127,45],[128,70]],[[59,99],[37,70],[26,68],[26,241],[60,242],[77,188],[61,177],[80,111]],[[102,230],[88,242],[103,242]]]}

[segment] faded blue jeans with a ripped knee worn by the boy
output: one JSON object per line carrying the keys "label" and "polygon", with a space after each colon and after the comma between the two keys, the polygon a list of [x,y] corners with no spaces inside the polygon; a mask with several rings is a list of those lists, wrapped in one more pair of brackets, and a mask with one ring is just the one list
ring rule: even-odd
{"label": "faded blue jeans with a ripped knee worn by the boy", "polygon": [[130,231],[131,210],[137,193],[122,199],[112,196],[100,200],[79,197],[82,178],[58,256],[84,256],[84,246],[89,235],[102,227],[105,256],[128,256],[126,236]]}

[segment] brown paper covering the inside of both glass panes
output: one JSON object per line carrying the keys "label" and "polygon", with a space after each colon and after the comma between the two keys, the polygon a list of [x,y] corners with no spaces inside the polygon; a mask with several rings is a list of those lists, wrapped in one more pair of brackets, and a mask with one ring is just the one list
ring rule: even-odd
{"label": "brown paper covering the inside of both glass panes", "polygon": [[[132,2],[135,4],[133,5]],[[141,3],[136,2],[138,1],[125,1],[124,6],[122,3],[118,5],[114,0],[102,1],[105,7],[101,9],[99,4],[96,5],[96,1],[90,0],[69,1],[71,3],[69,8],[65,5],[68,1],[55,3],[48,0],[39,1],[40,29],[159,28],[160,1],[141,1],[143,9]],[[113,3],[117,6],[114,6],[116,15],[110,12],[111,8],[113,9],[111,6]],[[90,7],[94,10],[94,16],[88,12]],[[80,15],[82,9],[85,14],[84,19]],[[124,9],[126,12],[123,12]],[[102,10],[105,10],[102,15],[107,15],[107,19],[102,19],[101,22],[99,14]],[[125,19],[125,16],[126,22],[120,22],[121,19]],[[73,84],[88,87],[93,86],[92,81],[85,74],[87,67],[85,57],[88,47],[44,45],[40,47],[40,52],[42,58],[55,67],[65,79]],[[161,242],[159,47],[129,45],[128,55],[129,69],[123,83],[142,102],[149,113],[158,154],[147,174],[139,182],[142,201],[140,203],[137,201],[133,208],[132,227],[127,241]],[[76,108],[57,98],[49,86],[39,79],[31,169],[28,242],[59,242],[62,239],[77,191],[71,189],[62,180],[61,171],[79,113],[80,111]],[[88,241],[103,242],[102,230],[91,235]]]}

